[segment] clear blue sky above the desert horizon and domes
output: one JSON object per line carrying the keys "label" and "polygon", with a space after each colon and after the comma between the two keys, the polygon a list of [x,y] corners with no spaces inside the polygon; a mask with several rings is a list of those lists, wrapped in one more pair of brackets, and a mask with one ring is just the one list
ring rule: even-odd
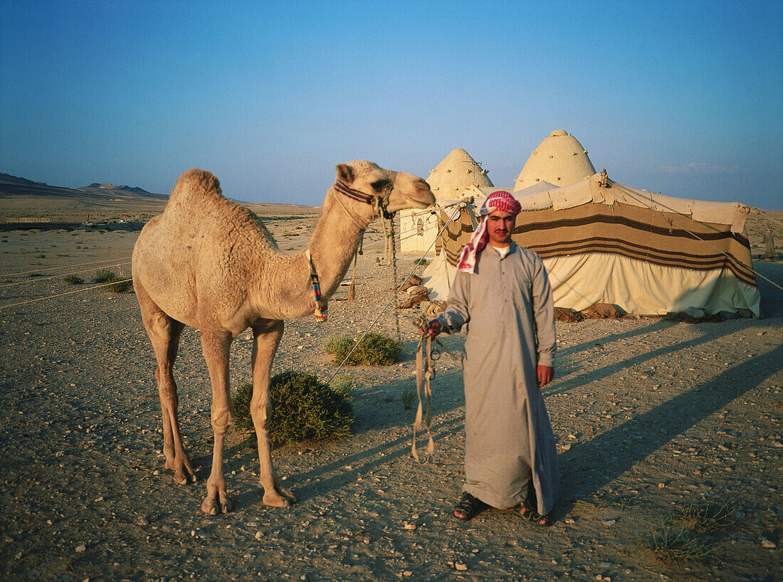
{"label": "clear blue sky above the desert horizon and domes", "polygon": [[597,170],[783,208],[783,2],[0,0],[0,171],[319,204],[334,165]]}

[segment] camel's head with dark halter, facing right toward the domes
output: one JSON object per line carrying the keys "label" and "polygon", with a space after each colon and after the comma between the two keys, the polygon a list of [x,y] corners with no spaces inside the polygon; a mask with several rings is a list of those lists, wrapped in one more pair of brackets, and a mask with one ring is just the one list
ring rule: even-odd
{"label": "camel's head with dark halter, facing right toward the domes", "polygon": [[380,196],[390,214],[406,208],[427,208],[435,203],[430,185],[413,174],[384,170],[366,160],[339,163],[336,169],[338,182],[365,196]]}

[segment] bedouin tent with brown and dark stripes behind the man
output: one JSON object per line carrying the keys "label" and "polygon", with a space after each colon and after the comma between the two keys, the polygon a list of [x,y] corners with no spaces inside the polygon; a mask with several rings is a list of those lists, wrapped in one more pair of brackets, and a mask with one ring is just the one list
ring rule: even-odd
{"label": "bedouin tent with brown and dark stripes behind the man", "polygon": [[[512,238],[543,259],[555,307],[583,311],[603,303],[657,315],[695,307],[759,316],[745,232],[749,207],[653,194],[612,181],[605,171],[541,189],[513,192],[522,211]],[[494,190],[474,188],[464,192],[474,203],[439,210],[441,226],[449,213],[456,219],[424,272],[431,299],[446,300],[460,251],[480,218],[481,196]]]}

